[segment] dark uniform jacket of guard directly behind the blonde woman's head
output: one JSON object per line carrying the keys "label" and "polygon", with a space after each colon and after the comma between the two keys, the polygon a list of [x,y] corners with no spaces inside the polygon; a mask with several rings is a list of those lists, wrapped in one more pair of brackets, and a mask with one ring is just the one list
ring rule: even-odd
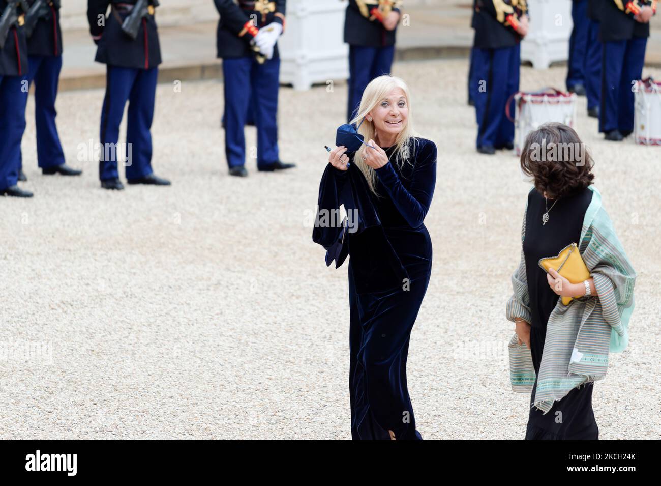
{"label": "dark uniform jacket of guard directly behind the blonde woman's head", "polygon": [[390,11],[400,11],[402,0],[349,0],[344,18],[344,42],[350,46],[389,47],[395,30],[386,30],[382,20]]}

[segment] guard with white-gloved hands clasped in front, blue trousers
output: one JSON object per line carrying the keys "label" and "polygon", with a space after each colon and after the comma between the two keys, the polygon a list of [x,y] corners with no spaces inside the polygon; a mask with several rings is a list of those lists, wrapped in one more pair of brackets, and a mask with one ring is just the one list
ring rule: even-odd
{"label": "guard with white-gloved hands clasped in front, blue trousers", "polygon": [[[223,59],[225,155],[229,174],[246,177],[243,129],[251,97],[257,128],[257,170],[295,167],[278,153],[278,37],[285,26],[285,0],[214,0],[220,13],[217,56]],[[247,88],[249,87],[249,88]]]}

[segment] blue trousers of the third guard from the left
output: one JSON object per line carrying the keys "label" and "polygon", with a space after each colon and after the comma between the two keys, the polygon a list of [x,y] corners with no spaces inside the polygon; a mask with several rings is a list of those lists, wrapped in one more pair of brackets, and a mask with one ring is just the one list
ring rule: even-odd
{"label": "blue trousers of the third guard from the left", "polygon": [[106,66],[106,96],[101,111],[99,162],[101,181],[118,179],[117,143],[124,107],[128,101],[126,124],[126,179],[140,179],[151,174],[151,122],[156,100],[158,67]]}

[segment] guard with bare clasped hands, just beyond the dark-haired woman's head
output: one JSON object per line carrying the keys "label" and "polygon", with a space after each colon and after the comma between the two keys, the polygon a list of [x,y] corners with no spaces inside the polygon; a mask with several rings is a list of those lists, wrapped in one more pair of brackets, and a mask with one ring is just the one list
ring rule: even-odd
{"label": "guard with bare clasped hands, just beyond the dark-haired woman's head", "polygon": [[528,31],[525,0],[475,0],[473,79],[477,151],[493,154],[514,147],[514,123],[505,108],[519,91],[520,42]]}

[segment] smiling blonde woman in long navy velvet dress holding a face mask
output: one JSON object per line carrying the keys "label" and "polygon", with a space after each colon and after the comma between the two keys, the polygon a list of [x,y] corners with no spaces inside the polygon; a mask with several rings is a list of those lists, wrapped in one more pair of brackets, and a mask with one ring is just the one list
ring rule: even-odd
{"label": "smiling blonde woman in long navy velvet dress holding a face mask", "polygon": [[367,202],[358,204],[366,227],[346,234],[352,438],[422,440],[406,366],[432,269],[423,221],[436,184],[436,145],[414,136],[408,87],[397,77],[373,79],[351,123],[368,142],[353,153],[331,151],[325,177],[332,174],[336,194],[350,184]]}

